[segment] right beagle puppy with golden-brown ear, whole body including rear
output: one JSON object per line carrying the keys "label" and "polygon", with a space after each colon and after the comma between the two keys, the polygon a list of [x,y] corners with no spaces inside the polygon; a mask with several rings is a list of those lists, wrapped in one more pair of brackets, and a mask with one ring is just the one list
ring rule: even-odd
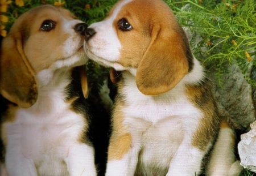
{"label": "right beagle puppy with golden-brown ear, whole body including rear", "polygon": [[166,3],[119,1],[85,34],[88,57],[122,72],[106,175],[199,175],[209,155],[208,175],[238,174],[234,132]]}

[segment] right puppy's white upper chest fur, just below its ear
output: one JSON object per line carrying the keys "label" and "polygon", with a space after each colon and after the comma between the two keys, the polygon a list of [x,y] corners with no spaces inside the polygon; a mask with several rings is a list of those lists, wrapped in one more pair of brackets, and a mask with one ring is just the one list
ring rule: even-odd
{"label": "right puppy's white upper chest fur, just below its ear", "polygon": [[200,111],[188,99],[184,83],[179,83],[171,91],[157,96],[143,95],[135,84],[134,77],[125,74],[126,107],[123,112],[125,117],[141,118],[153,125],[165,118],[187,117],[188,115],[201,117]]}

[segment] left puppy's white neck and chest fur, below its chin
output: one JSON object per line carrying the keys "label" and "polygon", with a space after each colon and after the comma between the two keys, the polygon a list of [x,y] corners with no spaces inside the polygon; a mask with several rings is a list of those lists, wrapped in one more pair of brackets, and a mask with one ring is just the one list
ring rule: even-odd
{"label": "left puppy's white neck and chest fur, below its chin", "polygon": [[69,73],[39,87],[36,103],[28,109],[18,109],[15,121],[5,123],[7,165],[12,166],[8,162],[15,161],[21,165],[14,166],[17,171],[26,165],[26,171],[39,175],[68,174],[65,160],[87,127],[85,118],[72,111],[64,100],[68,76]]}

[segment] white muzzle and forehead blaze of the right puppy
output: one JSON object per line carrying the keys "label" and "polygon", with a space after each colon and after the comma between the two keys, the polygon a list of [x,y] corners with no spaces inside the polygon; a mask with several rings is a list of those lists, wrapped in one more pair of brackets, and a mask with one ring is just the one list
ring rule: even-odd
{"label": "white muzzle and forehead blaze of the right puppy", "polygon": [[[93,23],[89,28],[93,28],[97,35],[93,36],[88,42],[85,42],[84,49],[89,58],[101,63],[107,67],[113,67],[116,70],[124,70],[124,67],[118,61],[122,44],[119,42],[115,33],[113,21],[119,10],[132,0],[125,0],[115,8],[112,16],[108,19]],[[93,47],[92,47],[93,46]]]}

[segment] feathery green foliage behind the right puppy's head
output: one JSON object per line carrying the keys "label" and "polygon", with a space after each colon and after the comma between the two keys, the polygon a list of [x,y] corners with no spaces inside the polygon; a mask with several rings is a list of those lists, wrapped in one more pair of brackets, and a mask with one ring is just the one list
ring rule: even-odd
{"label": "feathery green foliage behind the right puppy's head", "polygon": [[192,32],[193,53],[209,70],[222,74],[232,63],[240,66],[245,79],[256,65],[256,26],[254,0],[246,1],[172,1],[166,0],[179,22]]}

